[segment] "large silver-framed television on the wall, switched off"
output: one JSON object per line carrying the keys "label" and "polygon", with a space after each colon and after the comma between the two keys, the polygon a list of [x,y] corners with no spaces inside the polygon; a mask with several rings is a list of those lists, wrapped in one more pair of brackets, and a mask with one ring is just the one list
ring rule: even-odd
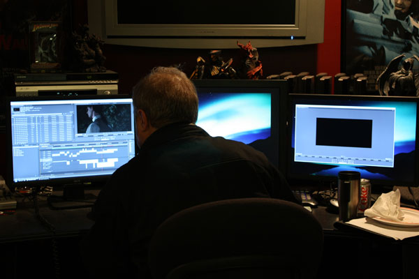
{"label": "large silver-framed television on the wall, switched off", "polygon": [[233,49],[323,43],[325,0],[87,1],[89,29],[105,43]]}

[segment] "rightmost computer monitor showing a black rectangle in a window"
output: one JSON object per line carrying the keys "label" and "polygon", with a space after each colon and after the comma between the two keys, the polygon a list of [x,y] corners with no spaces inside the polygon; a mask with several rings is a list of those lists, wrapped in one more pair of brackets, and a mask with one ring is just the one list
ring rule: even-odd
{"label": "rightmost computer monitor showing a black rectangle in a window", "polygon": [[289,179],[418,186],[418,98],[290,94],[288,115]]}

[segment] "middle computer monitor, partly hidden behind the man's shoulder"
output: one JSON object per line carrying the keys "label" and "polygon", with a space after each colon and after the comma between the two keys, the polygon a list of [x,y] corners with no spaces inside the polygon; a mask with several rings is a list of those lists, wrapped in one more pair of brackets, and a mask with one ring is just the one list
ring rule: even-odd
{"label": "middle computer monitor, partly hidden behind the man's shoulder", "polygon": [[[196,124],[212,136],[253,146],[284,170],[286,88],[284,80],[194,80]],[[281,128],[282,127],[282,128]]]}

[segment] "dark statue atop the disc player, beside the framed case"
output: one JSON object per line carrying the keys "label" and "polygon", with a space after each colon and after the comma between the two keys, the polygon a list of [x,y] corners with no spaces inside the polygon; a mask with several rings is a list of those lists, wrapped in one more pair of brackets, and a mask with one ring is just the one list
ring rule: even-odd
{"label": "dark statue atop the disc player, beside the framed case", "polygon": [[73,32],[75,53],[75,70],[84,73],[105,72],[105,56],[101,47],[103,40],[95,34],[89,35],[89,27],[84,24],[81,34]]}

